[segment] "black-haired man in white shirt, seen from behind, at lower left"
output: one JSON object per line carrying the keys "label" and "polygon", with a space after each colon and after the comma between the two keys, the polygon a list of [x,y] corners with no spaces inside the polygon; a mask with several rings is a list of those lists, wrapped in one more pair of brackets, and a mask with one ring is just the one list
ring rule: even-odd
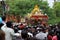
{"label": "black-haired man in white shirt, seen from behind, at lower left", "polygon": [[1,28],[5,32],[5,40],[12,40],[13,36],[15,36],[14,30],[11,27],[12,23],[7,22]]}

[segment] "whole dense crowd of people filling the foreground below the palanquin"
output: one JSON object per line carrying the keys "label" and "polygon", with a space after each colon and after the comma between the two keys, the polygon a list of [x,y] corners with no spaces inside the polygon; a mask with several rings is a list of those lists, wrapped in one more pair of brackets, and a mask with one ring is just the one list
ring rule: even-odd
{"label": "whole dense crowd of people filling the foreground below the palanquin", "polygon": [[[11,21],[6,22],[6,17],[1,17],[0,40],[60,40],[60,23],[56,25],[36,25],[20,27]],[[22,25],[22,24],[21,24]]]}

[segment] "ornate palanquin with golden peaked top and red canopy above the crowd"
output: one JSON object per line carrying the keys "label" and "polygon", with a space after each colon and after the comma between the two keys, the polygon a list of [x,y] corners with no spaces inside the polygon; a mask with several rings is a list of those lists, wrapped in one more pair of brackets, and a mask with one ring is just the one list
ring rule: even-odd
{"label": "ornate palanquin with golden peaked top and red canopy above the crowd", "polygon": [[28,13],[27,17],[28,19],[33,20],[33,21],[35,20],[36,22],[40,22],[41,24],[47,24],[47,21],[48,21],[47,14],[43,14],[42,10],[40,10],[38,5],[34,7],[31,13]]}

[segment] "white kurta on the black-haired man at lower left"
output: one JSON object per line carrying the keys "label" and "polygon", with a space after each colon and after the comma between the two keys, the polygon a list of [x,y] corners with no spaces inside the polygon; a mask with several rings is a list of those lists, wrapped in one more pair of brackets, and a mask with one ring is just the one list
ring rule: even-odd
{"label": "white kurta on the black-haired man at lower left", "polygon": [[5,40],[12,40],[12,36],[14,35],[14,30],[6,27],[5,25],[1,29],[5,32]]}

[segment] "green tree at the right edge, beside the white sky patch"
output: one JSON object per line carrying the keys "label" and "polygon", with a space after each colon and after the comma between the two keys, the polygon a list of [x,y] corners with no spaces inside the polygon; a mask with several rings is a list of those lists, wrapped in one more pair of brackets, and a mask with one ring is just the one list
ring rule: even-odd
{"label": "green tree at the right edge, beside the white sky patch", "polygon": [[[53,6],[53,15],[52,18],[49,20],[49,23],[55,24],[60,22],[60,2],[55,2]],[[55,18],[54,18],[55,17]]]}

